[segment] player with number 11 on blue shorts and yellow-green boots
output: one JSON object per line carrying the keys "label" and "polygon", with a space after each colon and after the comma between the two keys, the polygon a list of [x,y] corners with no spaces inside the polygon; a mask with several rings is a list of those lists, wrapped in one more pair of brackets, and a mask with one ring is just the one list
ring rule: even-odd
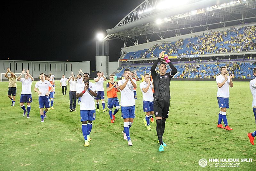
{"label": "player with number 11 on blue shorts and yellow-green boots", "polygon": [[[94,97],[97,97],[96,85],[90,82],[90,74],[83,74],[83,81],[77,86],[76,98],[81,97],[80,116],[82,122],[82,132],[84,135],[84,146],[89,146],[91,141],[92,120],[96,118]],[[88,125],[87,125],[88,121]]]}

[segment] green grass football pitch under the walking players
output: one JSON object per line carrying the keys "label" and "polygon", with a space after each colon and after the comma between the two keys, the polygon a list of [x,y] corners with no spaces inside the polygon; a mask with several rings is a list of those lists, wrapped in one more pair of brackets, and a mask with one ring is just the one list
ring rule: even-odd
{"label": "green grass football pitch under the walking players", "polygon": [[[227,131],[217,128],[220,109],[216,82],[171,81],[169,118],[163,136],[167,146],[163,153],[158,152],[156,122],[150,123],[151,131],[143,123],[145,113],[140,82],[137,82],[136,117],[130,128],[133,145],[128,146],[123,138],[121,110],[116,114],[115,123],[110,123],[108,111],[103,113],[100,103],[89,147],[84,147],[80,105],[76,105],[76,112],[69,112],[69,87],[67,95],[62,96],[56,81],[54,110],[49,110],[41,123],[38,94],[34,92],[36,81],[32,83],[33,102],[29,119],[22,116],[19,104],[21,82],[17,82],[15,106],[11,106],[7,97],[8,82],[0,82],[0,170],[256,170],[256,146],[247,137],[247,133],[256,130],[249,82],[234,82],[234,87],[229,88],[227,119],[233,130]],[[206,159],[207,166],[200,167],[200,159]],[[238,161],[225,162],[222,159]]]}

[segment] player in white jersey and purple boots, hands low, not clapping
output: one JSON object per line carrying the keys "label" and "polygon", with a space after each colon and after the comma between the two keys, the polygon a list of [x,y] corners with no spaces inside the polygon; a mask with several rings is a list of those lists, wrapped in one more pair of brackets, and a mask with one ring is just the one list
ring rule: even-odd
{"label": "player in white jersey and purple boots, hands low, not clapping", "polygon": [[[53,90],[51,82],[45,80],[44,78],[45,78],[44,73],[41,73],[40,81],[36,82],[35,89],[34,89],[35,92],[38,92],[38,96],[39,96],[38,101],[39,101],[40,115],[42,119],[41,122],[44,122],[44,119],[46,119],[46,112],[48,111],[48,108],[50,108],[48,96],[50,92]],[[48,87],[51,87],[51,89],[49,90]]]}

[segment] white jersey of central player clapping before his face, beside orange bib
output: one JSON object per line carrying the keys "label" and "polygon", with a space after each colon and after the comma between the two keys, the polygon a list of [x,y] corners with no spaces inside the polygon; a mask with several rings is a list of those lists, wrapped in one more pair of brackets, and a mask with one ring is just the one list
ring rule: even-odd
{"label": "white jersey of central player clapping before his face, beside orange bib", "polygon": [[[135,84],[136,81],[132,80]],[[118,85],[121,86],[126,82],[125,79],[119,80]],[[135,105],[135,100],[134,100],[134,94],[133,94],[133,86],[132,82],[129,80],[123,90],[120,90],[121,92],[121,107],[129,107],[129,106],[134,106]]]}

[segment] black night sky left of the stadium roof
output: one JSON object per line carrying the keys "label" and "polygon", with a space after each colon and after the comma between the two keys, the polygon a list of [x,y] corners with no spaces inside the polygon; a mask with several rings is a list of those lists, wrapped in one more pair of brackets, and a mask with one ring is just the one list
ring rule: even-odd
{"label": "black night sky left of the stadium roof", "polygon": [[[1,57],[7,60],[89,61],[95,70],[98,33],[107,35],[143,0],[8,1],[1,7]],[[122,40],[109,41],[116,61]]]}

